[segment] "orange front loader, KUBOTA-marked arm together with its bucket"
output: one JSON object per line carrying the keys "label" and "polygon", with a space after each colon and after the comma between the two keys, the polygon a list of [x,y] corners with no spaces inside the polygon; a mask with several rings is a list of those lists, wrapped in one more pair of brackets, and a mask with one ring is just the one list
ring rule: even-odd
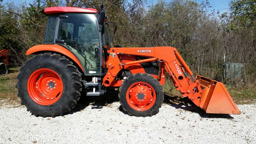
{"label": "orange front loader, KUBOTA-marked arm together with its bucket", "polygon": [[[161,64],[160,84],[164,84],[164,70],[166,70],[176,90],[180,90],[183,97],[188,97],[196,106],[199,106],[207,113],[240,114],[224,84],[202,76],[196,76],[195,78],[176,48],[110,48],[108,53],[110,54],[107,61],[108,72],[103,78],[103,84],[106,87],[113,86],[112,82],[115,81],[118,72],[126,68],[126,66],[158,60]],[[120,60],[122,54],[152,58],[123,63]],[[122,84],[122,81],[119,80],[114,83]]]}

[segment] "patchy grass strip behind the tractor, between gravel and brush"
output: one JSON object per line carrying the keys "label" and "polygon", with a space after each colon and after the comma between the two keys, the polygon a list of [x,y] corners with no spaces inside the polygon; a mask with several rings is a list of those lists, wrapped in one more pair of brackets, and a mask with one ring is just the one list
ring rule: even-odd
{"label": "patchy grass strip behind the tractor, between gravel and brush", "polygon": [[[20,98],[17,97],[18,90],[15,88],[19,68],[9,68],[8,71],[9,73],[7,75],[0,76],[0,105],[20,104]],[[255,86],[226,86],[226,88],[236,104],[256,103]],[[172,102],[184,102],[185,99],[183,99],[180,92],[174,88],[170,79],[166,80],[163,89],[165,96],[172,97],[170,99]]]}

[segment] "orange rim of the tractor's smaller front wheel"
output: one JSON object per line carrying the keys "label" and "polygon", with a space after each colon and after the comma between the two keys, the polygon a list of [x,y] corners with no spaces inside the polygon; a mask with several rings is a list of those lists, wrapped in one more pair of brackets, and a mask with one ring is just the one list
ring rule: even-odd
{"label": "orange rim of the tractor's smaller front wheel", "polygon": [[156,102],[156,92],[148,83],[136,82],[128,88],[126,100],[134,110],[149,110]]}

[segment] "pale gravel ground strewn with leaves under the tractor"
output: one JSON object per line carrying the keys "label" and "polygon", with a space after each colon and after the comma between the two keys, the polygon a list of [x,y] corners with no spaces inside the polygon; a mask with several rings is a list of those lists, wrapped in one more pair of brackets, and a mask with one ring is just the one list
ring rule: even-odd
{"label": "pale gravel ground strewn with leaves under the tractor", "polygon": [[129,116],[114,100],[88,102],[64,116],[35,117],[25,106],[0,108],[0,144],[256,143],[256,104],[240,115],[206,114],[194,104],[164,103],[152,117]]}

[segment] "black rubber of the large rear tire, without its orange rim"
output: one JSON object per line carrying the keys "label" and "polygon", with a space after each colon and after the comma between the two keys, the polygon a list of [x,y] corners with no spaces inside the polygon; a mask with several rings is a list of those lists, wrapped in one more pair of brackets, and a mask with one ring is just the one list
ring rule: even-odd
{"label": "black rubber of the large rear tire, without its orange rim", "polygon": [[[27,73],[29,71],[30,65],[32,65],[33,62],[41,62],[43,64],[44,60],[51,60],[55,63],[58,63],[58,65],[64,66],[62,69],[65,71],[66,77],[70,78],[70,81],[68,82],[70,85],[71,90],[66,90],[66,93],[63,95],[65,98],[62,99],[63,102],[55,102],[54,106],[42,106],[39,104],[36,104],[34,101],[31,102],[31,98],[27,93],[26,84],[24,83],[24,80],[22,80],[25,76],[27,76]],[[74,108],[74,106],[77,104],[77,100],[79,100],[81,94],[80,91],[82,90],[82,78],[78,74],[78,69],[76,66],[72,65],[73,63],[65,58],[64,56],[61,56],[60,54],[52,54],[52,53],[44,53],[44,54],[38,54],[29,60],[20,68],[20,73],[17,76],[18,82],[16,84],[16,88],[18,88],[18,97],[21,99],[21,104],[24,104],[27,107],[27,110],[32,112],[35,116],[51,116],[55,117],[58,115],[63,115],[65,112],[69,112],[71,108]],[[24,92],[25,91],[25,92]],[[64,92],[63,87],[63,92]],[[30,99],[30,100],[28,100]],[[63,103],[63,105],[60,105]],[[51,109],[51,106],[54,107],[54,109]],[[38,108],[41,107],[41,108]]]}

